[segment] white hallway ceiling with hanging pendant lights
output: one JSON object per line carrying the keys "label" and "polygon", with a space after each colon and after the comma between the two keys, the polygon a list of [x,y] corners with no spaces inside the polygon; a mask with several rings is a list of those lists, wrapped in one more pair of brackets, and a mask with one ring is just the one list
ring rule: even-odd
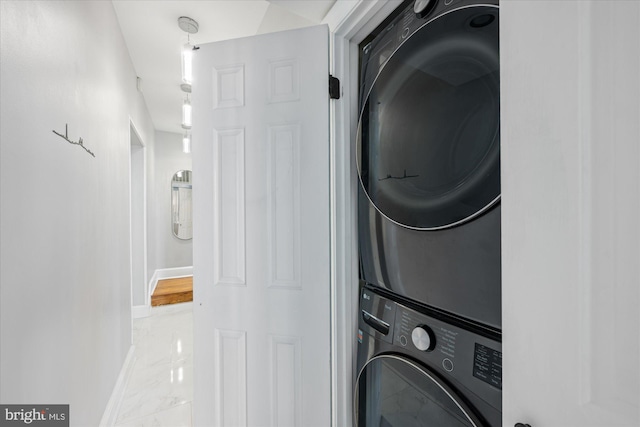
{"label": "white hallway ceiling with hanging pendant lights", "polygon": [[319,24],[336,0],[113,0],[156,130],[183,133],[180,49],[187,33],[178,18],[199,24],[192,44]]}

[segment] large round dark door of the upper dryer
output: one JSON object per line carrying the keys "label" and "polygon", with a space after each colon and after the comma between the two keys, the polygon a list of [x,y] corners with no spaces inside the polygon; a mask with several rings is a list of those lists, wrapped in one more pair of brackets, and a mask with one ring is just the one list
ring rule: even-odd
{"label": "large round dark door of the upper dryer", "polygon": [[500,199],[498,9],[427,22],[367,94],[356,156],[376,209],[405,227],[462,224]]}

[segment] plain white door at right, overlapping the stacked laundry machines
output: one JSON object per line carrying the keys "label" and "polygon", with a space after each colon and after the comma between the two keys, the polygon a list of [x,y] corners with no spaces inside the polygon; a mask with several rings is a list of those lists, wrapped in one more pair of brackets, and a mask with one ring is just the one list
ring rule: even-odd
{"label": "plain white door at right, overlapping the stacked laundry machines", "polygon": [[500,3],[504,426],[640,425],[640,2]]}

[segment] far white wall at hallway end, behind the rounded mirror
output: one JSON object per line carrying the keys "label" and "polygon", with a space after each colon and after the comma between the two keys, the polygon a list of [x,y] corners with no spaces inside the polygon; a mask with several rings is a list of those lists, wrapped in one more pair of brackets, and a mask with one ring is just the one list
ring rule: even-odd
{"label": "far white wall at hallway end, behind the rounded mirror", "polygon": [[[193,265],[193,240],[181,240],[171,231],[171,179],[179,170],[191,170],[191,154],[182,152],[182,135],[156,132],[153,157],[154,268],[176,268]],[[153,273],[153,271],[151,271]]]}

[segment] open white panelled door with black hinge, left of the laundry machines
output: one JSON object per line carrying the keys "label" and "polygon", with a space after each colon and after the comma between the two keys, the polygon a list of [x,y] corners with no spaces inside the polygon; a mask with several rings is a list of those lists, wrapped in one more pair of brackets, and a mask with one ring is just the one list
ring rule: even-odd
{"label": "open white panelled door with black hinge, left of the laundry machines", "polygon": [[328,29],[195,56],[194,425],[328,426]]}

